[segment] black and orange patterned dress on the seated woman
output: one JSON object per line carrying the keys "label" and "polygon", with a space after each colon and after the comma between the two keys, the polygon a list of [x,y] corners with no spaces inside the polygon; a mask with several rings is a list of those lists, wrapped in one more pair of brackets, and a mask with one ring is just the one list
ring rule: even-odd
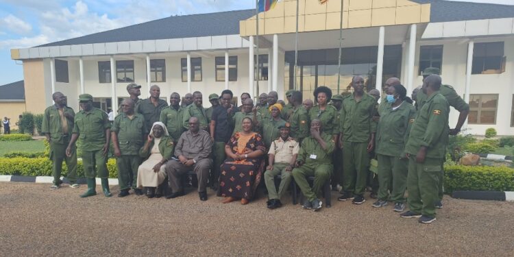
{"label": "black and orange patterned dress on the seated woman", "polygon": [[[252,151],[266,151],[262,136],[252,133],[243,136],[239,132],[234,134],[227,143],[234,154],[249,154]],[[262,178],[264,171],[264,159],[246,158],[244,160],[234,160],[227,158],[221,164],[221,174],[219,175],[219,195],[223,197],[235,197],[252,199],[256,188]]]}

